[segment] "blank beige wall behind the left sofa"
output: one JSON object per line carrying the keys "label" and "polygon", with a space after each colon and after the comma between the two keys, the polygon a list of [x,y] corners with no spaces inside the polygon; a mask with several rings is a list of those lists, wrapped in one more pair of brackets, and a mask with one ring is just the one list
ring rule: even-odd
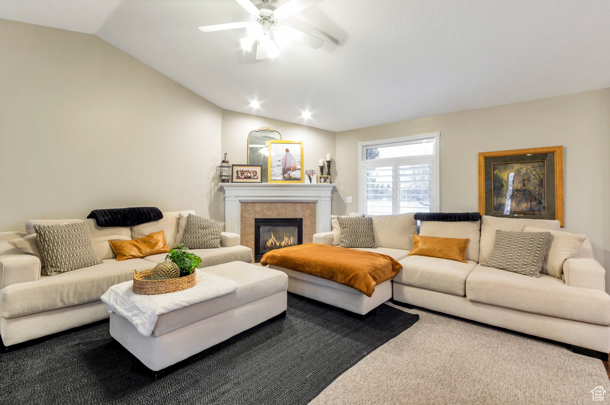
{"label": "blank beige wall behind the left sofa", "polygon": [[0,55],[0,231],[123,206],[223,218],[221,108],[94,35],[0,19]]}

